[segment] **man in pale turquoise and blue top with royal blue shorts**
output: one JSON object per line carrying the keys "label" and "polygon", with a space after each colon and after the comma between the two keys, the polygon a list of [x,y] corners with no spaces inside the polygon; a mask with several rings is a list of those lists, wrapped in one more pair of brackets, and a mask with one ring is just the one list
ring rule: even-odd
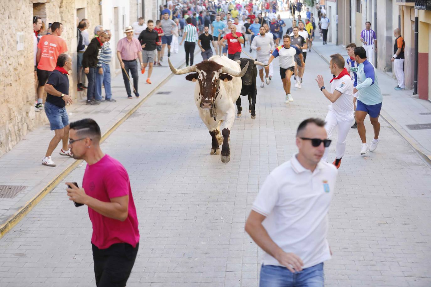
{"label": "man in pale turquoise and blue top with royal blue shorts", "polygon": [[[358,133],[362,140],[361,154],[366,154],[368,151],[375,151],[380,142],[378,138],[380,133],[378,116],[380,115],[383,96],[378,86],[375,68],[368,62],[364,47],[356,47],[354,52],[355,60],[359,64],[357,73],[358,85],[353,88],[353,93],[358,93],[355,117],[358,125]],[[374,129],[374,139],[370,146],[368,146],[365,137],[364,120],[367,114],[370,116]]]}

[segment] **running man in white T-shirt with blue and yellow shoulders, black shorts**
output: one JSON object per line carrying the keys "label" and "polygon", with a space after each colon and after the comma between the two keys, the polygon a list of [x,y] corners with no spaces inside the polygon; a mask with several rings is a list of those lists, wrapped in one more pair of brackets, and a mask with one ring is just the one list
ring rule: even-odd
{"label": "running man in white T-shirt with blue and yellow shoulders, black shorts", "polygon": [[280,66],[280,77],[281,81],[283,82],[283,89],[284,92],[286,92],[286,99],[284,100],[286,104],[289,102],[293,102],[294,100],[290,95],[290,77],[292,77],[292,74],[294,73],[295,69],[295,55],[299,56],[302,61],[302,64],[305,66],[301,50],[295,46],[290,46],[290,36],[284,35],[283,46],[278,46],[277,48],[275,48],[268,61],[269,65],[272,60],[274,60],[274,58],[280,56],[280,59],[278,59],[278,65]]}

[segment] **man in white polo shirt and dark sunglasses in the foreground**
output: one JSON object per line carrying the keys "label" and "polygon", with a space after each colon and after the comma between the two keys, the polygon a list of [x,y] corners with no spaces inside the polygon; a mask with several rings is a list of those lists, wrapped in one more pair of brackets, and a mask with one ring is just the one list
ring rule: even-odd
{"label": "man in white polo shirt and dark sunglasses in the foreground", "polygon": [[260,287],[323,287],[323,262],[331,259],[327,215],[337,169],[320,159],[330,143],[323,120],[300,123],[299,153],[269,174],[253,203],[245,230],[265,251]]}

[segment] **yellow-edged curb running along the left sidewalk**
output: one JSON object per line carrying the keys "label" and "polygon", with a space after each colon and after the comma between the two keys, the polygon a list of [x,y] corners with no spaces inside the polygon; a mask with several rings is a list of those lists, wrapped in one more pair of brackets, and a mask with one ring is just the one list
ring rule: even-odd
{"label": "yellow-edged curb running along the left sidewalk", "polygon": [[[194,53],[196,56],[200,50]],[[179,68],[182,68],[185,65],[185,61],[178,66]],[[170,70],[169,70],[170,71]],[[147,94],[144,98],[140,99],[140,101],[130,109],[123,117],[121,117],[116,123],[110,127],[106,133],[102,135],[102,138],[100,139],[100,142],[102,143],[107,137],[111,135],[112,132],[114,132],[122,123],[125,122],[125,120],[128,119],[128,117],[131,116],[138,108],[141,107],[144,102],[154,94],[154,92],[159,89],[161,86],[163,86],[174,74],[171,72],[169,73],[164,80],[162,80],[157,86],[155,86],[150,93]],[[21,221],[21,219],[24,218],[25,215],[27,215],[30,210],[33,209],[33,207],[38,204],[48,193],[50,193],[60,182],[62,182],[63,179],[68,176],[72,170],[74,170],[76,167],[78,167],[79,164],[81,164],[83,160],[75,160],[72,164],[70,164],[66,169],[62,171],[58,176],[56,176],[52,181],[50,181],[41,191],[39,191],[31,200],[27,201],[23,207],[21,207],[15,214],[9,217],[5,223],[0,225],[0,238],[2,238],[8,231],[10,231],[18,222]]]}

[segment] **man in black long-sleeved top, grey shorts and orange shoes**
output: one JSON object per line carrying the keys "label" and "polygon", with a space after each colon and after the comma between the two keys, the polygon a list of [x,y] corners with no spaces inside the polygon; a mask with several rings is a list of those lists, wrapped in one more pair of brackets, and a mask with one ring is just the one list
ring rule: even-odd
{"label": "man in black long-sleeved top, grey shorts and orange shoes", "polygon": [[147,84],[151,84],[151,73],[153,72],[153,63],[157,57],[156,43],[159,41],[159,34],[154,30],[153,20],[148,20],[147,29],[141,32],[138,37],[142,47],[142,61],[144,63],[144,69],[148,67]]}

